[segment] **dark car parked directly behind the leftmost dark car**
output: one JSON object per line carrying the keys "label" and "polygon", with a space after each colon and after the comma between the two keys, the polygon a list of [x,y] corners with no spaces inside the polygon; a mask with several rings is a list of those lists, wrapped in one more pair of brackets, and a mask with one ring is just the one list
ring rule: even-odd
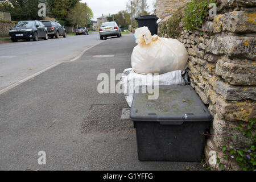
{"label": "dark car parked directly behind the leftmost dark car", "polygon": [[47,27],[48,36],[50,38],[55,37],[58,39],[60,36],[63,36],[64,38],[67,37],[65,28],[61,26],[59,22],[54,22],[52,20],[41,20],[41,22]]}

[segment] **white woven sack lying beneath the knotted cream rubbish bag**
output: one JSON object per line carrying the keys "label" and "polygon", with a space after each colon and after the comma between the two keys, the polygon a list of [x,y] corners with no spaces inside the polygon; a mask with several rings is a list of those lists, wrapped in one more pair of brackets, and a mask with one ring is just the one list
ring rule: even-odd
{"label": "white woven sack lying beneath the knotted cream rubbish bag", "polygon": [[134,90],[137,86],[185,85],[180,70],[155,76],[154,74],[141,75],[135,73],[133,68],[123,71],[122,79],[119,83],[122,85],[125,100],[130,107],[133,102]]}

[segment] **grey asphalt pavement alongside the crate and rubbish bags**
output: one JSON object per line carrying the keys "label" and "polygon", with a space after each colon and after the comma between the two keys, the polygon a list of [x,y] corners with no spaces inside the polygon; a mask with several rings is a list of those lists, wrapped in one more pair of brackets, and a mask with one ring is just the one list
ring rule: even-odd
{"label": "grey asphalt pavement alongside the crate and rubbish bags", "polygon": [[[198,169],[199,163],[139,162],[132,123],[115,119],[127,107],[123,94],[97,92],[98,74],[131,67],[134,46],[131,35],[109,39],[1,94],[0,170]],[[39,151],[46,165],[38,164]]]}

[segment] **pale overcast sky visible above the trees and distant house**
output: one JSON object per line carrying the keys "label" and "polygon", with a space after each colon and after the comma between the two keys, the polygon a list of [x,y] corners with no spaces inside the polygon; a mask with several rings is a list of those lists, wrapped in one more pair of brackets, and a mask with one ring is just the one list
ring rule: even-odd
{"label": "pale overcast sky visible above the trees and distant house", "polygon": [[[90,9],[92,9],[94,17],[93,20],[96,20],[102,14],[115,14],[118,11],[126,9],[126,2],[129,0],[82,0],[82,2],[88,3]],[[147,0],[147,4],[150,7],[149,11],[153,13],[153,2],[155,0]],[[129,1],[130,2],[130,1]]]}

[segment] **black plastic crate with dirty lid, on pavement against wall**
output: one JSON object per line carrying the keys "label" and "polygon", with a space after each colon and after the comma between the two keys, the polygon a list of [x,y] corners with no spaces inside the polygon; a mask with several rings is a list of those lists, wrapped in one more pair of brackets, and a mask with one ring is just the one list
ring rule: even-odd
{"label": "black plastic crate with dirty lid, on pavement against wall", "polygon": [[130,119],[139,160],[201,161],[212,116],[191,86],[159,86],[158,100],[135,93]]}

